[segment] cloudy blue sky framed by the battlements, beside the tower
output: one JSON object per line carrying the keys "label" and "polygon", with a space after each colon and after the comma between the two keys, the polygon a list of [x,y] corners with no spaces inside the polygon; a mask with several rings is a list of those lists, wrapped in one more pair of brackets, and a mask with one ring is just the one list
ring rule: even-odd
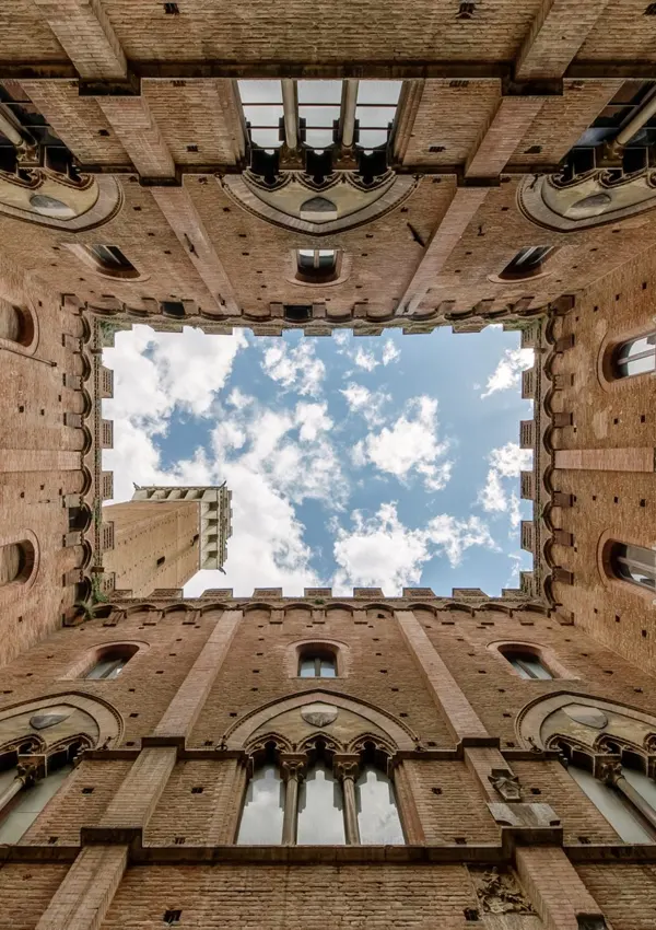
{"label": "cloudy blue sky framed by the battlements, beside the tower", "polygon": [[115,397],[115,501],[138,484],[233,490],[226,574],[206,588],[482,588],[518,583],[522,370],[532,353],[500,326],[480,334],[305,338],[118,333],[105,351]]}

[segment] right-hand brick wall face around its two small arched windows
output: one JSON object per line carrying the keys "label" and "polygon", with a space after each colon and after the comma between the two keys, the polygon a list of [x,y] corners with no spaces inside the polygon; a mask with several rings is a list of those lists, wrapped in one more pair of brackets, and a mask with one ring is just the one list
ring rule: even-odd
{"label": "right-hand brick wall face around its two small arched windows", "polygon": [[[656,381],[649,374],[609,380],[604,362],[617,342],[653,332],[655,288],[654,260],[645,255],[581,295],[559,330],[562,336],[572,334],[574,346],[557,361],[554,373],[565,375],[565,388],[553,399],[555,409],[574,410],[573,426],[553,433],[557,449],[564,450],[561,455],[608,450],[607,462],[619,456],[622,467],[630,469],[555,473],[554,489],[573,495],[574,505],[557,510],[554,520],[573,534],[574,546],[557,545],[552,557],[575,578],[573,586],[557,584],[557,596],[575,624],[648,670],[656,667],[652,595],[610,580],[601,556],[607,538],[646,547],[656,543],[656,474],[653,457],[652,470],[646,470],[644,452],[656,447]],[[571,375],[574,384],[566,386]],[[639,460],[642,467],[634,470]]]}

